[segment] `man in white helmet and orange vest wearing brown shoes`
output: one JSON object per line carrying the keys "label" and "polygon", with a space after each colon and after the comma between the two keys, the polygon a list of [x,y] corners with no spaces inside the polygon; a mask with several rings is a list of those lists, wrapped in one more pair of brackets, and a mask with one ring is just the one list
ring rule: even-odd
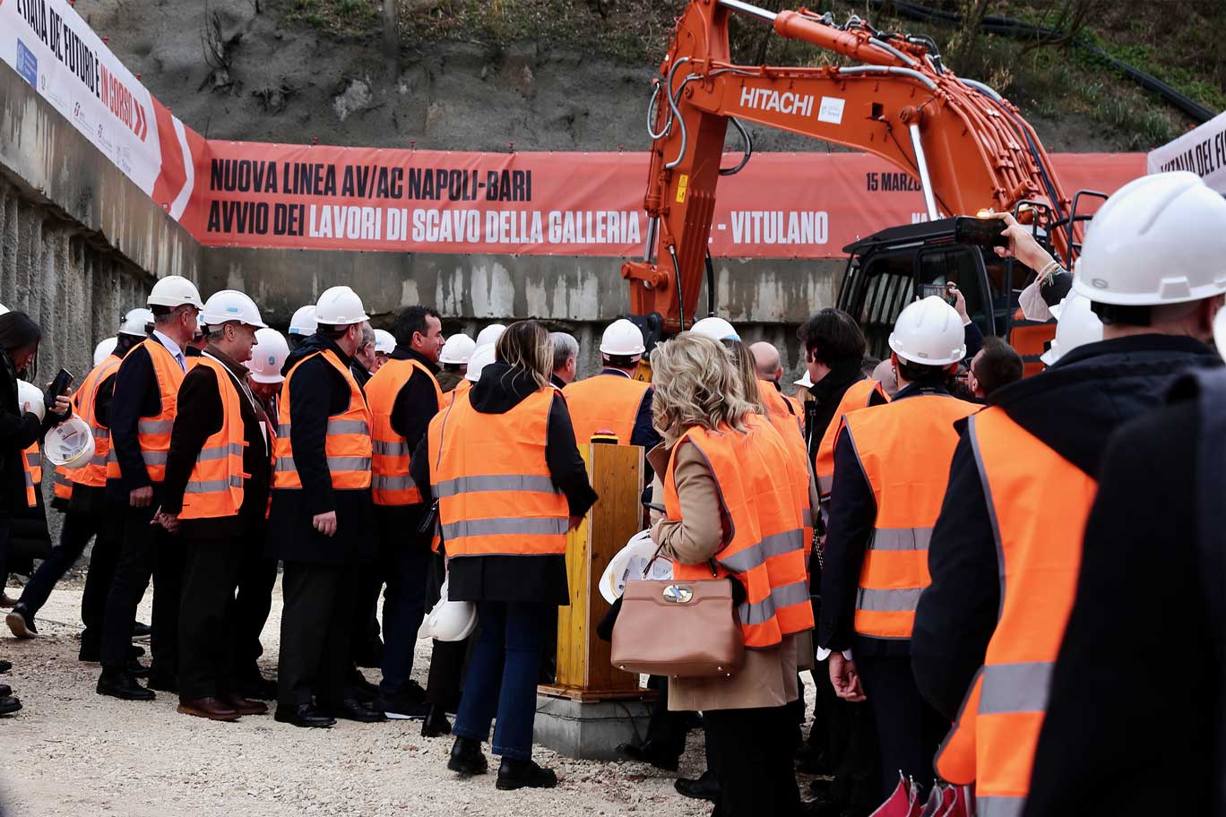
{"label": "man in white helmet and orange vest wearing brown shoes", "polygon": [[201,312],[207,344],[179,387],[162,507],[156,521],[188,551],[179,619],[179,712],[211,720],[262,715],[239,692],[234,592],[264,541],[271,456],[267,416],[248,383],[255,331],[250,298],[215,293]]}

